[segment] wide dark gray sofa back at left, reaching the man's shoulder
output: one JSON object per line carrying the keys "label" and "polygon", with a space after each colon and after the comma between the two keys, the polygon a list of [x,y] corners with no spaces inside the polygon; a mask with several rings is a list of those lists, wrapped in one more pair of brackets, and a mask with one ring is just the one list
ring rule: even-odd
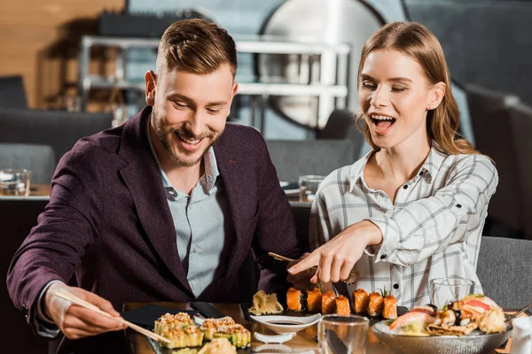
{"label": "wide dark gray sofa back at left, reaching the man's shoulder", "polygon": [[84,136],[111,127],[112,113],[12,110],[0,107],[0,142],[51,145],[57,160]]}

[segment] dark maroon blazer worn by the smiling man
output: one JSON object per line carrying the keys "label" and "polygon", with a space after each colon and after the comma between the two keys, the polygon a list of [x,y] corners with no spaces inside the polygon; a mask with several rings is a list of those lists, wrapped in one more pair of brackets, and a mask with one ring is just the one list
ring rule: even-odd
{"label": "dark maroon blazer worn by the smiling man", "polygon": [[[80,287],[106,298],[118,311],[127,301],[249,300],[240,296],[239,273],[250,250],[261,270],[259,289],[286,291],[286,265],[273,262],[268,252],[291,258],[301,254],[290,204],[262,135],[252,127],[227,124],[214,149],[235,241],[227,272],[198,298],[192,294],[149,147],[150,113],[146,107],[121,127],[83,138],[59,161],[50,203],[7,276],[12,301],[28,323],[45,284],[68,282],[74,273]],[[63,341],[59,352],[111,350],[120,335]]]}

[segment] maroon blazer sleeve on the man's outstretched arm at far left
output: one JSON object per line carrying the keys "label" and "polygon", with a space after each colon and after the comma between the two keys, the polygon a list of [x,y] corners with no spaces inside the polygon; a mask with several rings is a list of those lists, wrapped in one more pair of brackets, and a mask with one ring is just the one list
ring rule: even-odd
{"label": "maroon blazer sleeve on the man's outstretched arm at far left", "polygon": [[13,304],[26,312],[30,324],[43,287],[53,280],[68,283],[98,234],[103,201],[96,191],[103,183],[98,159],[92,155],[78,144],[61,158],[50,202],[12,258],[7,288]]}

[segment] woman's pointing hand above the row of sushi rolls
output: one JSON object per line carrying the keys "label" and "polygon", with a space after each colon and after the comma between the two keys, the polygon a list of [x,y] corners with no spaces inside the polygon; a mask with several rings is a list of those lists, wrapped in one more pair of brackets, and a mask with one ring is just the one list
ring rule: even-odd
{"label": "woman's pointing hand above the row of sushi rolls", "polygon": [[364,249],[380,242],[382,233],[379,227],[368,220],[357,222],[291,266],[288,273],[296,275],[318,266],[319,271],[310,279],[313,283],[347,279]]}

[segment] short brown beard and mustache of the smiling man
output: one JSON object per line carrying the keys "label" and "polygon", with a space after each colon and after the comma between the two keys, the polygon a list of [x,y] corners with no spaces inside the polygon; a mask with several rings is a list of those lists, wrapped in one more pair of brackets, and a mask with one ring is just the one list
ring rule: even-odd
{"label": "short brown beard and mustache of the smiling man", "polygon": [[[158,119],[157,114],[155,110],[152,112],[152,119],[153,119],[153,130],[155,131],[155,134],[159,137],[160,144],[162,145],[162,148],[167,152],[168,157],[172,162],[176,163],[177,165],[184,166],[184,167],[191,167],[193,165],[197,165],[200,163],[201,159],[205,156],[208,149],[215,144],[215,142],[218,141],[220,138],[220,135],[215,135],[215,133],[211,130],[208,130],[207,132],[202,133],[201,135],[194,135],[190,130],[179,127],[162,127],[160,124],[160,119]],[[174,151],[172,150],[172,146],[170,143],[170,139],[168,138],[168,135],[175,135],[178,136],[176,139],[186,139],[186,140],[201,140],[201,139],[211,139],[210,143],[207,145],[205,150],[201,152],[201,155],[198,159],[194,161],[185,160],[184,158],[180,158],[177,156]],[[201,142],[198,142],[201,143]],[[195,153],[195,151],[187,151],[187,150],[179,150],[183,155],[185,156],[191,156]]]}

